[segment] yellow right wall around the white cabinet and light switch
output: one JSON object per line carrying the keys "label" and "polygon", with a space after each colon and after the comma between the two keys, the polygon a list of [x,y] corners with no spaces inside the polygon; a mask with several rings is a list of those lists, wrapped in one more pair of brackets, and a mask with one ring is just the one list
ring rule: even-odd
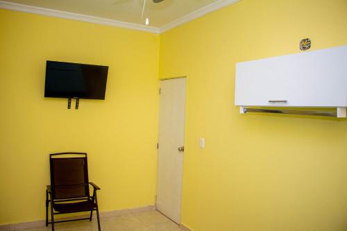
{"label": "yellow right wall around the white cabinet and light switch", "polygon": [[[182,221],[194,231],[347,230],[347,121],[239,114],[235,63],[347,44],[346,0],[243,0],[160,38],[187,75]],[[205,137],[206,148],[198,148]]]}

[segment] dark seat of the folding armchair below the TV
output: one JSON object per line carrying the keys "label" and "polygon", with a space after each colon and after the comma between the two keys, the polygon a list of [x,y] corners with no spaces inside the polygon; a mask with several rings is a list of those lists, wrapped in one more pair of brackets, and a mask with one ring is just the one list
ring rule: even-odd
{"label": "dark seat of the folding armchair below the TV", "polygon": [[84,212],[96,208],[96,204],[92,200],[78,201],[74,203],[53,203],[53,209],[57,212]]}

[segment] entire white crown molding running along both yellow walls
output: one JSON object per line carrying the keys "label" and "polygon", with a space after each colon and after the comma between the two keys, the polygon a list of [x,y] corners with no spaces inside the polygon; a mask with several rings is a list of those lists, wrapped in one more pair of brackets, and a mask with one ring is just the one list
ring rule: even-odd
{"label": "entire white crown molding running along both yellow walls", "polygon": [[22,11],[22,12],[29,12],[37,15],[44,15],[49,17],[60,17],[63,19],[73,19],[81,22],[90,22],[94,24],[103,24],[108,26],[115,26],[115,27],[121,27],[121,28],[129,28],[137,31],[146,31],[149,33],[162,33],[164,31],[169,31],[171,28],[175,28],[176,26],[179,26],[181,24],[185,24],[189,21],[192,21],[194,19],[197,19],[198,17],[202,17],[203,15],[207,15],[210,12],[219,10],[223,7],[232,5],[234,3],[237,3],[240,0],[219,0],[214,3],[211,3],[208,6],[205,6],[203,8],[200,8],[198,10],[195,10],[194,12],[190,12],[188,15],[185,15],[183,17],[180,17],[179,19],[176,19],[174,22],[170,22],[169,24],[166,24],[164,26],[153,27],[153,26],[145,26],[142,24],[133,24],[130,22],[121,22],[114,19],[105,19],[102,17],[94,17],[90,15],[81,15],[74,12],[66,12],[66,11],[60,11],[60,10],[52,10],[49,8],[41,8],[36,6],[28,6],[23,5],[19,3],[12,3],[8,1],[0,1],[0,8],[7,9],[7,10],[15,10],[15,11]]}

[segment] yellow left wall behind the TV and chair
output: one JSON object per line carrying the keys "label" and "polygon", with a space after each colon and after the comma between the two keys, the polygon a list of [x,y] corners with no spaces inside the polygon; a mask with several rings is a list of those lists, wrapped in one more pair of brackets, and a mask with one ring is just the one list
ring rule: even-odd
{"label": "yellow left wall behind the TV and chair", "polygon": [[[62,151],[89,154],[101,211],[154,204],[159,39],[0,10],[0,225],[44,219],[48,154]],[[105,101],[44,98],[46,60],[108,65]]]}

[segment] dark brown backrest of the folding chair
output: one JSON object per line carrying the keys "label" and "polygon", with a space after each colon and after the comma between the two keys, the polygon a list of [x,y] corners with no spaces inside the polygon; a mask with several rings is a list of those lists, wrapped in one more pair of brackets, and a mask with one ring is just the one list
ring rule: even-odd
{"label": "dark brown backrest of the folding chair", "polygon": [[87,153],[49,155],[54,199],[89,197]]}

